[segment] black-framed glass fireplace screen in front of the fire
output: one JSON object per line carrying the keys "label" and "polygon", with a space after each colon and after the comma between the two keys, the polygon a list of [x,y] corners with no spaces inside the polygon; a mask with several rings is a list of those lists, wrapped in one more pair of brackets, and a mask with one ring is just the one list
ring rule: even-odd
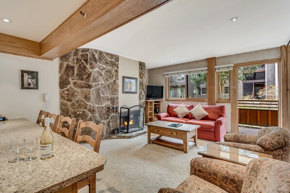
{"label": "black-framed glass fireplace screen in front of the fire", "polygon": [[135,105],[128,108],[126,105],[120,110],[120,132],[132,133],[144,129],[145,107]]}

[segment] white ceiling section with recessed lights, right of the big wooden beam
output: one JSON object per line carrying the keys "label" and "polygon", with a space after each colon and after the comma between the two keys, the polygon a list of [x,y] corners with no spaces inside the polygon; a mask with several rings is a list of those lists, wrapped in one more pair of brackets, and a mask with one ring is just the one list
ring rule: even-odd
{"label": "white ceiling section with recessed lights, right of the big wooden beam", "polygon": [[[82,47],[149,69],[278,47],[290,38],[289,7],[290,0],[173,0]],[[229,22],[234,16],[240,20]]]}

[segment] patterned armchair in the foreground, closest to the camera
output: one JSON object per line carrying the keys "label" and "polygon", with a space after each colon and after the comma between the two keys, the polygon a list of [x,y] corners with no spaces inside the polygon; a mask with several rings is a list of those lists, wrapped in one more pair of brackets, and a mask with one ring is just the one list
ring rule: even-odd
{"label": "patterned armchair in the foreground, closest to the camera", "polygon": [[247,166],[210,158],[194,158],[191,176],[176,189],[158,193],[289,193],[290,163],[259,158]]}

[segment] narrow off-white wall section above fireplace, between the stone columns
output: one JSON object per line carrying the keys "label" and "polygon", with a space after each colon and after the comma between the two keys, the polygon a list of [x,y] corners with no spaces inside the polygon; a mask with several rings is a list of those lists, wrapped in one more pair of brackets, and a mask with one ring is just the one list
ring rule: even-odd
{"label": "narrow off-white wall section above fireplace, between the stone columns", "polygon": [[[123,76],[138,78],[137,94],[123,93]],[[121,57],[119,58],[119,106],[139,105],[139,61]]]}

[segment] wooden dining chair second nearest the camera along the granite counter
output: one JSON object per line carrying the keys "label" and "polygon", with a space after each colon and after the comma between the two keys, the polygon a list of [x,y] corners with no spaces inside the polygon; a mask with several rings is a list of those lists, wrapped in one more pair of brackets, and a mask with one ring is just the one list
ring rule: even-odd
{"label": "wooden dining chair second nearest the camera along the granite counter", "polygon": [[[67,122],[69,124],[69,128],[63,127],[64,122]],[[59,118],[58,126],[56,129],[57,134],[64,133],[66,138],[72,140],[72,135],[74,133],[76,119],[70,119],[69,117],[64,117],[63,115]]]}

